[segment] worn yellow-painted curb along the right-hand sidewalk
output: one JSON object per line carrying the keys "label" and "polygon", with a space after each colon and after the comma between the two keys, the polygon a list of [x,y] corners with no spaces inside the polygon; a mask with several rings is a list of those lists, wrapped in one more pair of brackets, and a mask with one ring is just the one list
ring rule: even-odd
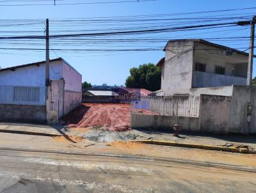
{"label": "worn yellow-painted curb along the right-hand sidewalk", "polygon": [[158,141],[158,140],[139,140],[134,141],[138,143],[146,143],[146,144],[157,144],[162,146],[178,146],[182,148],[195,148],[195,149],[203,149],[203,150],[215,150],[215,151],[228,151],[234,153],[252,153],[256,154],[256,150],[249,150],[248,148],[236,148],[236,147],[223,147],[223,146],[212,146],[212,145],[204,145],[204,144],[196,144],[196,143],[177,143],[175,141]]}

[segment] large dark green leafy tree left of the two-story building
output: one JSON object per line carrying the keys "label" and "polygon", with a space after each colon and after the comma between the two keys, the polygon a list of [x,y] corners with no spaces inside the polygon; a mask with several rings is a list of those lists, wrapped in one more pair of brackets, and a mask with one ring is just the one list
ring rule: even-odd
{"label": "large dark green leafy tree left of the two-story building", "polygon": [[153,63],[131,68],[130,73],[125,81],[125,86],[129,88],[145,88],[150,91],[161,88],[161,68]]}

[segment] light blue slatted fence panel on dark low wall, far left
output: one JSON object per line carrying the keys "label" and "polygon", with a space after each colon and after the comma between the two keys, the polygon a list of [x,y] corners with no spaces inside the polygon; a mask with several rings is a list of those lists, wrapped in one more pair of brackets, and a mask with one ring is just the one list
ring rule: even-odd
{"label": "light blue slatted fence panel on dark low wall, far left", "polygon": [[0,86],[0,104],[45,105],[45,87]]}

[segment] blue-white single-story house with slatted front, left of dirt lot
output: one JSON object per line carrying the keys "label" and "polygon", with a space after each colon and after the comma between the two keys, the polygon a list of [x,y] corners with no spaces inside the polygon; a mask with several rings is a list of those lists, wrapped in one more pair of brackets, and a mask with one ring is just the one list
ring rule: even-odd
{"label": "blue-white single-story house with slatted front, left of dirt lot", "polygon": [[[50,60],[49,108],[56,118],[81,104],[82,75],[62,58]],[[0,119],[46,121],[45,61],[0,70]]]}

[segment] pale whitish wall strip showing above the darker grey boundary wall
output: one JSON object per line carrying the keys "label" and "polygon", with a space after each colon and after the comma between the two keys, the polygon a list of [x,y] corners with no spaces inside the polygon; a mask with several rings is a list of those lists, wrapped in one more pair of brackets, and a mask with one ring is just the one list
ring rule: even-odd
{"label": "pale whitish wall strip showing above the darker grey boundary wall", "polygon": [[192,96],[200,96],[200,95],[232,96],[232,94],[233,94],[233,86],[191,88],[189,93],[189,95],[192,95]]}

